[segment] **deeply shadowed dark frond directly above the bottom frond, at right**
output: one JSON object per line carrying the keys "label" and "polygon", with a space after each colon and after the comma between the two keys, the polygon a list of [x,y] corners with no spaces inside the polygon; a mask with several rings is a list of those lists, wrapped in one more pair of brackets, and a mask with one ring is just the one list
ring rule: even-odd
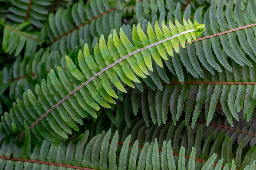
{"label": "deeply shadowed dark frond directly above the bottom frond, at right", "polygon": [[[122,118],[117,130],[119,131],[120,141],[124,141],[128,135],[132,135],[130,139],[131,143],[137,140],[140,146],[144,146],[146,143],[154,142],[155,139],[157,139],[157,141],[159,141],[159,148],[162,148],[163,141],[170,140],[173,151],[176,153],[178,153],[180,147],[183,146],[186,148],[185,153],[189,154],[194,146],[197,153],[195,157],[198,159],[207,160],[213,153],[216,153],[218,155],[216,158],[217,161],[224,159],[224,163],[231,163],[234,158],[236,162],[240,164],[237,166],[239,168],[248,150],[251,148],[254,150],[254,145],[250,146],[250,144],[248,144],[254,142],[254,139],[251,138],[255,137],[253,121],[249,122],[249,124],[245,121],[236,121],[234,123],[238,125],[235,128],[231,128],[227,121],[223,123],[223,118],[215,116],[214,119],[213,123],[208,127],[204,120],[201,119],[197,122],[195,128],[191,129],[189,126],[184,126],[184,121],[178,121],[176,125],[173,124],[173,121],[170,121],[168,124],[161,124],[160,126],[150,121],[150,127],[147,127],[143,119],[138,119],[138,117],[132,119],[132,126],[128,127],[124,125],[125,120]],[[108,130],[107,127],[110,125],[109,120],[106,119],[106,114],[102,114],[98,120],[96,124],[93,123],[92,127],[90,127],[91,123],[86,121],[89,125],[85,125],[85,129],[90,129],[91,132],[94,133],[96,130],[95,127],[98,127],[98,124],[102,124],[102,122],[106,120],[106,124],[108,125],[106,125],[106,129],[103,130]],[[239,126],[244,126],[244,128],[242,129],[242,127]],[[101,128],[102,127],[103,126],[101,126]],[[116,128],[112,127],[111,129],[115,130]],[[97,128],[96,134],[100,133],[98,130]],[[233,149],[230,148],[231,146]],[[241,155],[243,155],[243,157],[241,157]],[[255,158],[255,156],[251,156],[251,160]],[[202,163],[197,163],[196,166],[201,168]]]}

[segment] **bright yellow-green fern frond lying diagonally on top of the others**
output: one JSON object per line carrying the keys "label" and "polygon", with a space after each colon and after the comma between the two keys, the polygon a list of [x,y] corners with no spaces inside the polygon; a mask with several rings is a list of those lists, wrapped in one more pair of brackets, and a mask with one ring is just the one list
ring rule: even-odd
{"label": "bright yellow-green fern frond lying diagonally on top of the others", "polygon": [[[116,76],[114,71],[116,71],[116,73],[119,75],[121,80],[124,80],[124,82],[129,82],[130,80],[139,82],[137,77],[132,73],[132,70],[137,75],[146,78],[144,73],[148,74],[148,72],[146,70],[146,65],[144,63],[144,60],[151,60],[151,58],[148,58],[148,57],[145,58],[144,60],[139,60],[139,58],[137,58],[136,60],[135,57],[141,56],[141,53],[140,53],[141,51],[150,50],[154,52],[155,55],[153,56],[153,59],[158,60],[160,62],[159,64],[162,66],[162,61],[157,51],[159,51],[160,49],[162,50],[162,48],[164,48],[163,44],[165,44],[166,46],[167,45],[170,46],[171,42],[173,42],[172,44],[177,45],[181,41],[183,43],[182,46],[184,46],[185,44],[184,40],[186,38],[190,38],[190,39],[192,37],[195,38],[195,31],[197,31],[197,29],[199,31],[201,30],[201,28],[199,28],[198,26],[196,27],[196,29],[194,29],[195,27],[193,26],[192,23],[191,23],[191,26],[187,25],[186,27],[182,26],[181,24],[179,25],[177,24],[179,29],[177,29],[171,22],[169,22],[169,24],[172,29],[175,29],[175,31],[172,33],[166,27],[164,31],[164,33],[166,34],[165,35],[166,38],[163,40],[159,39],[160,37],[158,38],[158,40],[156,39],[155,37],[156,35],[153,32],[153,28],[150,23],[148,23],[148,28],[147,28],[148,35],[151,34],[150,37],[151,36],[153,37],[152,37],[152,40],[151,39],[148,40],[145,33],[142,31],[140,24],[138,24],[137,30],[134,29],[133,33],[137,33],[137,34],[139,33],[139,37],[141,38],[142,43],[147,45],[146,47],[141,49],[139,49],[139,47],[135,47],[132,45],[132,43],[126,37],[126,34],[124,33],[123,29],[120,29],[121,40],[117,36],[116,31],[113,32],[113,35],[110,34],[108,38],[108,46],[106,45],[105,40],[102,36],[99,41],[99,45],[98,43],[96,43],[94,46],[94,57],[99,67],[97,66],[95,61],[92,59],[91,57],[92,55],[89,52],[88,45],[85,44],[83,52],[80,50],[78,54],[79,69],[74,64],[74,62],[72,62],[70,57],[66,56],[67,72],[65,73],[63,69],[60,67],[58,68],[58,74],[54,73],[54,70],[52,70],[47,76],[47,82],[45,81],[45,79],[43,79],[41,82],[41,86],[39,86],[38,84],[36,85],[36,93],[37,93],[36,98],[38,98],[38,101],[35,100],[36,98],[34,94],[31,91],[28,91],[23,95],[23,98],[24,97],[26,98],[26,99],[24,98],[26,107],[22,106],[21,101],[18,99],[17,100],[18,105],[16,104],[13,105],[18,110],[16,109],[11,110],[10,114],[16,115],[16,116],[19,115],[18,117],[20,116],[24,117],[25,119],[27,119],[29,124],[33,124],[30,127],[33,129],[35,125],[37,125],[42,119],[44,119],[44,117],[48,117],[49,113],[52,112],[53,115],[51,114],[50,117],[53,116],[56,118],[54,119],[53,122],[51,121],[53,124],[52,123],[49,124],[46,120],[44,120],[46,124],[43,125],[45,126],[46,129],[48,129],[48,131],[51,131],[50,129],[54,129],[55,132],[52,131],[54,132],[54,136],[50,135],[52,136],[51,140],[55,141],[56,137],[60,139],[63,139],[63,137],[67,138],[67,134],[65,133],[69,133],[69,134],[72,133],[70,127],[77,131],[78,126],[76,124],[77,123],[83,124],[81,117],[87,117],[88,116],[87,113],[89,113],[92,117],[96,118],[97,115],[94,110],[99,110],[100,108],[99,105],[106,108],[110,108],[110,105],[108,103],[115,104],[115,101],[112,99],[112,97],[117,98],[117,95],[112,90],[112,86],[110,82],[113,83],[117,89],[125,92],[124,86],[121,84],[119,78]],[[191,29],[191,27],[193,29]],[[182,32],[182,30],[185,28],[187,29],[187,31]],[[159,29],[158,24],[155,24],[155,29]],[[180,30],[180,33],[178,32],[179,30]],[[164,36],[164,33],[162,33],[162,36]],[[167,35],[172,35],[172,34],[173,34],[172,37],[167,37]],[[193,35],[193,36],[186,37],[185,35]],[[171,42],[168,40],[171,40]],[[126,46],[124,46],[122,42],[126,44]],[[118,53],[116,53],[115,51]],[[115,53],[115,56],[114,58],[112,58],[110,54],[114,54],[114,53]],[[135,57],[132,55],[135,55]],[[108,59],[106,58],[107,56],[108,56]],[[166,58],[166,55],[162,54],[161,57]],[[108,65],[107,67],[104,63],[101,62],[102,59],[104,59],[105,64]],[[125,59],[127,59],[127,61]],[[112,63],[113,61],[115,62]],[[137,62],[139,64],[137,64]],[[132,70],[129,68],[129,65],[131,66]],[[122,67],[122,69],[124,69],[123,73],[120,72],[121,71],[120,66]],[[139,67],[139,66],[143,66],[143,67]],[[145,69],[141,70],[141,68],[145,68]],[[57,75],[59,79],[57,78]],[[109,79],[106,77],[106,75],[108,75]],[[91,81],[93,83],[90,83]],[[81,84],[81,82],[84,82],[84,83]],[[85,86],[88,83],[90,84],[85,88],[83,88],[83,86]],[[50,93],[48,93],[48,91],[50,91]],[[82,101],[85,101],[85,102],[82,102]],[[27,104],[33,107],[28,107]],[[51,106],[54,106],[54,107],[51,108]],[[34,111],[32,111],[34,109],[37,110],[36,111],[37,114],[41,115],[40,117],[38,117],[37,114],[31,117],[28,114],[26,114],[30,111],[32,113],[35,113]],[[48,111],[45,113],[44,110],[45,111],[48,110]],[[61,112],[61,114],[59,114],[59,112]],[[9,113],[5,113],[5,114],[9,115]],[[38,118],[36,119],[36,117]],[[12,120],[12,121],[15,121],[15,120]],[[60,124],[60,121],[64,121],[65,123],[63,122],[64,124],[63,123]],[[60,124],[60,126],[57,125],[57,122],[58,124]],[[23,126],[22,122],[16,122],[15,124],[17,124],[18,130],[22,129],[22,126]],[[41,124],[38,124],[38,125],[41,126]],[[36,131],[35,133],[37,133]]]}

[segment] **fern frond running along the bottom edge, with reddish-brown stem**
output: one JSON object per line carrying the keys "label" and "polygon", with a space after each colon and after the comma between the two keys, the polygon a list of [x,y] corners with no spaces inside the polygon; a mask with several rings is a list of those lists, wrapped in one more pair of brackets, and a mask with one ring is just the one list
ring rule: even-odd
{"label": "fern frond running along the bottom edge, with reddish-brown stem", "polygon": [[[186,170],[189,168],[189,170],[204,170],[207,167],[215,166],[216,170],[222,170],[222,168],[226,169],[228,167],[228,164],[225,164],[225,166],[222,165],[225,161],[223,158],[219,161],[216,160],[217,155],[215,153],[209,156],[207,160],[202,158],[195,159],[197,155],[195,147],[192,147],[190,152],[186,152],[185,148],[180,146],[177,153],[173,150],[175,145],[171,146],[170,140],[168,142],[164,140],[160,143],[156,138],[151,143],[146,142],[141,146],[138,140],[131,142],[131,135],[119,141],[118,131],[113,136],[111,129],[108,132],[101,132],[92,139],[88,138],[89,131],[87,130],[76,139],[67,139],[58,143],[44,140],[40,146],[31,148],[29,127],[26,122],[24,124],[26,130],[24,145],[20,141],[14,140],[12,136],[2,141],[0,148],[1,169],[8,168],[11,170],[15,166],[18,166],[20,168],[36,169],[67,167],[74,169],[91,168],[107,170],[117,169],[119,167],[118,169],[124,170],[127,168],[174,170]],[[228,138],[225,138],[223,147],[226,139]],[[221,139],[219,138],[219,140]],[[207,142],[209,143],[210,141],[208,140]],[[159,144],[161,144],[161,148],[159,148]],[[247,164],[244,168],[248,168],[248,166],[251,166],[253,169],[255,168],[254,157],[250,157],[252,153],[255,153],[254,148],[248,152],[248,156],[245,156]],[[226,154],[223,156],[225,158],[227,157]],[[231,162],[231,168],[236,167],[234,159],[231,159],[229,162]]]}

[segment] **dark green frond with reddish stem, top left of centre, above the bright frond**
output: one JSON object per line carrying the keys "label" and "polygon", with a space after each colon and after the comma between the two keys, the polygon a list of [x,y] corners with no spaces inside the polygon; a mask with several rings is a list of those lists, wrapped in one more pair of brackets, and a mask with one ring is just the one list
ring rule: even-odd
{"label": "dark green frond with reddish stem, top left of centre, above the bright frond", "polygon": [[[91,49],[92,38],[108,35],[111,29],[121,27],[122,10],[112,8],[108,1],[79,0],[66,10],[61,8],[49,14],[43,31],[47,34],[47,47],[65,56],[83,39]],[[114,18],[114,19],[113,19]],[[102,26],[104,25],[104,26]]]}

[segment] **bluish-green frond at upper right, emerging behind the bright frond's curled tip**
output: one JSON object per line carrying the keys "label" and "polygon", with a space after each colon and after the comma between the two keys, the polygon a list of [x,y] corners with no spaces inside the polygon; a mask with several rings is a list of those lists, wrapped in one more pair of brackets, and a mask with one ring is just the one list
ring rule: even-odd
{"label": "bluish-green frond at upper right, emerging behind the bright frond's curled tip", "polygon": [[[223,1],[220,1],[220,3],[212,2],[203,19],[203,7],[195,11],[195,20],[205,24],[204,37],[199,38],[197,42],[192,44],[186,44],[185,49],[180,48],[180,55],[171,57],[172,61],[166,64],[171,72],[177,75],[180,82],[184,81],[182,65],[194,77],[202,78],[204,68],[211,74],[215,74],[214,70],[221,73],[224,68],[232,72],[230,60],[234,60],[240,66],[254,65],[256,61],[254,45],[256,43],[254,35],[256,22],[253,19],[255,9],[252,8],[254,6],[255,2],[249,0],[243,9],[239,1],[235,4],[236,13],[234,14],[232,12],[233,1],[229,1],[225,8]],[[245,15],[238,12],[242,10],[241,8]],[[225,9],[227,13],[224,15],[223,11]],[[174,15],[178,21],[181,20],[180,13]],[[187,20],[186,17],[188,16],[189,12],[186,12],[183,18]]]}

